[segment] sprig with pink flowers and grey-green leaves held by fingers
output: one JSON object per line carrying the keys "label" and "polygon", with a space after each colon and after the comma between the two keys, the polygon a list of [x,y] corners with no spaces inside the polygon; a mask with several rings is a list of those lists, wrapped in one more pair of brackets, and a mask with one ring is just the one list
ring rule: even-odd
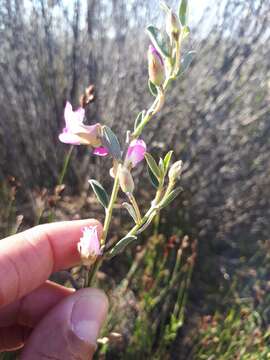
{"label": "sprig with pink flowers and grey-green leaves held by fingers", "polygon": [[[137,116],[133,132],[127,132],[125,147],[121,147],[117,136],[108,126],[101,123],[88,126],[83,123],[85,107],[93,99],[92,87],[86,89],[85,95],[81,97],[81,107],[76,111],[72,110],[70,103],[66,104],[64,113],[66,125],[59,135],[60,141],[89,146],[93,149],[94,155],[111,156],[113,162],[110,175],[114,179],[114,185],[110,196],[98,181],[89,180],[97,199],[105,209],[105,220],[100,240],[96,228],[84,228],[78,244],[82,262],[89,267],[85,286],[90,286],[95,272],[104,259],[116,256],[126,246],[136,241],[138,235],[151,224],[160,210],[169,205],[182,191],[181,187],[177,187],[182,172],[182,161],[171,165],[173,151],[169,151],[164,159],[160,159],[157,163],[147,152],[147,145],[141,138],[146,125],[162,109],[169,85],[188,69],[194,55],[191,51],[181,56],[183,41],[189,35],[187,0],[180,2],[178,14],[165,2],[161,3],[161,7],[165,11],[166,31],[153,25],[146,29],[151,40],[147,53],[148,85],[155,99],[148,110],[143,110]],[[151,182],[156,189],[156,195],[145,214],[141,214],[137,204],[132,175],[132,169],[143,159],[146,160]],[[134,226],[124,238],[111,244],[107,242],[107,237],[120,189],[127,197],[127,201],[122,206],[132,217]]]}

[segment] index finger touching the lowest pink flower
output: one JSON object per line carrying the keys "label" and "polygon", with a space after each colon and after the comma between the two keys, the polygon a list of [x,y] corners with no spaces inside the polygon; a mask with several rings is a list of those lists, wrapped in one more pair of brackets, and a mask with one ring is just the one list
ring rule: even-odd
{"label": "index finger touching the lowest pink flower", "polygon": [[77,243],[84,226],[97,220],[39,225],[0,241],[0,307],[43,284],[52,272],[80,262]]}

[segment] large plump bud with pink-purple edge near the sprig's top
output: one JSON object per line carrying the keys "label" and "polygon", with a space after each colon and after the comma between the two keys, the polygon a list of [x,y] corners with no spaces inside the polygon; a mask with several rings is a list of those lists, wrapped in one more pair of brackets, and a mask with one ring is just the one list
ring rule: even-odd
{"label": "large plump bud with pink-purple edge near the sprig's top", "polygon": [[148,49],[148,72],[150,81],[160,86],[165,80],[165,67],[159,52],[150,45]]}

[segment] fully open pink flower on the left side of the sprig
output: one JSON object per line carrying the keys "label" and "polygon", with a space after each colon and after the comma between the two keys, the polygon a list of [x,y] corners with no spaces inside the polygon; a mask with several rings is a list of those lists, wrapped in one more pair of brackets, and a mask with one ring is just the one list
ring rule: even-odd
{"label": "fully open pink flower on the left side of the sprig", "polygon": [[66,126],[59,135],[59,140],[71,145],[90,145],[95,148],[94,154],[105,156],[108,150],[101,147],[101,125],[99,123],[88,126],[84,125],[83,120],[85,110],[78,108],[72,110],[72,105],[67,102],[64,112]]}

